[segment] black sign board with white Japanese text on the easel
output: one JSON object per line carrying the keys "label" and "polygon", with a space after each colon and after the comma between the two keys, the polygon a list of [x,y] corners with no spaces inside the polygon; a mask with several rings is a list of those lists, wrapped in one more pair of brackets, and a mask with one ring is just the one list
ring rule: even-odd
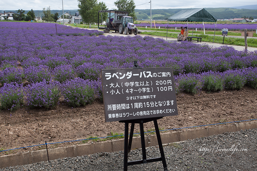
{"label": "black sign board with white Japanese text on the easel", "polygon": [[171,67],[103,69],[105,121],[178,115]]}

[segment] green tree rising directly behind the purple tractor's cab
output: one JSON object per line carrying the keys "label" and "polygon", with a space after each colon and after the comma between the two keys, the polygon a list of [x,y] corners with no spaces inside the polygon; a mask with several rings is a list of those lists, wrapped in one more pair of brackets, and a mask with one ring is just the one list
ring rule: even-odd
{"label": "green tree rising directly behind the purple tractor's cab", "polygon": [[136,19],[135,14],[135,2],[133,0],[117,0],[114,2],[114,5],[118,8],[119,11],[127,11],[129,12],[129,16]]}

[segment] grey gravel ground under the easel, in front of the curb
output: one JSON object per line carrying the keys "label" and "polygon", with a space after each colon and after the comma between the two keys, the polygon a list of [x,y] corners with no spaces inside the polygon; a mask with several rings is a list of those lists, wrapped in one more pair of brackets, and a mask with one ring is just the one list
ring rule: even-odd
{"label": "grey gravel ground under the easel, in front of the curb", "polygon": [[[257,129],[227,132],[197,138],[164,147],[169,171],[257,171]],[[147,158],[160,157],[158,147],[146,149]],[[129,153],[129,161],[142,160],[141,149]],[[123,151],[98,153],[81,157],[67,157],[23,166],[13,166],[1,171],[121,171]],[[129,171],[164,170],[162,162],[128,166]]]}

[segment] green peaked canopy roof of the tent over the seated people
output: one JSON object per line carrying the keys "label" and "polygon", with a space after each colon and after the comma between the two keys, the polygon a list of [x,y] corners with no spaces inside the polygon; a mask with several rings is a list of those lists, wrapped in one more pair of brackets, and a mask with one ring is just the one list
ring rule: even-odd
{"label": "green peaked canopy roof of the tent over the seated people", "polygon": [[169,17],[168,21],[216,22],[217,19],[204,8],[200,8],[192,10],[181,10]]}

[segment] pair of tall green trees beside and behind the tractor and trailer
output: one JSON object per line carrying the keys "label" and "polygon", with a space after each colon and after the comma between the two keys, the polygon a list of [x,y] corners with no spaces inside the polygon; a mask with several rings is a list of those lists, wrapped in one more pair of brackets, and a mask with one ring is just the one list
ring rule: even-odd
{"label": "pair of tall green trees beside and behind the tractor and trailer", "polygon": [[[78,0],[79,4],[79,12],[86,24],[98,23],[98,11],[100,10],[108,10],[106,4],[104,2],[97,3],[97,0]],[[118,11],[127,11],[129,12],[129,16],[136,19],[135,14],[135,2],[133,0],[117,0],[114,2],[114,5],[118,9]],[[99,20],[106,21],[108,14],[103,13]],[[102,18],[101,18],[102,17]]]}

